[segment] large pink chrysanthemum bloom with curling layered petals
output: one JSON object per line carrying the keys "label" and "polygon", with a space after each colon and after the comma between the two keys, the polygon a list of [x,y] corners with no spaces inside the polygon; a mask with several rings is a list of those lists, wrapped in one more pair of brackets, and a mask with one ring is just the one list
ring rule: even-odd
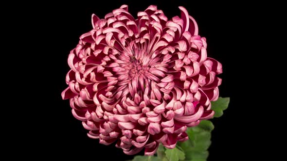
{"label": "large pink chrysanthemum bloom with curling layered petals", "polygon": [[92,15],[93,29],[80,37],[68,58],[72,114],[88,136],[116,142],[132,155],[153,155],[161,143],[174,148],[188,139],[187,127],[214,115],[222,66],[206,54],[206,39],[185,8],[168,20],[156,6],[135,19],[127,5],[104,19]]}

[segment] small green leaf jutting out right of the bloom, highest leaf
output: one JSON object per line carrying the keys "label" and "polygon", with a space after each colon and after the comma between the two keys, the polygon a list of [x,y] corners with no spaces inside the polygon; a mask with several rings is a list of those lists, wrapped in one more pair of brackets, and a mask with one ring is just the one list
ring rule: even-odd
{"label": "small green leaf jutting out right of the bloom, highest leaf", "polygon": [[215,111],[214,117],[220,117],[223,111],[227,109],[230,97],[218,97],[216,101],[211,102],[211,109]]}

